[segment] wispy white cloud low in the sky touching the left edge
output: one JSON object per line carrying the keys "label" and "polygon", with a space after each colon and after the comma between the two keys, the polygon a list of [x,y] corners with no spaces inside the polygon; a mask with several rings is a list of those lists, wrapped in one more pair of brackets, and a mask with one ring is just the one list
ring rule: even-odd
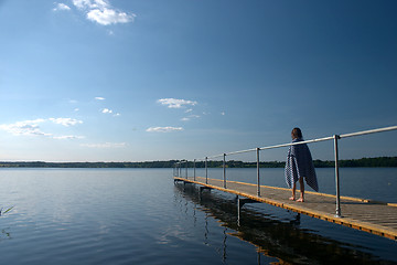
{"label": "wispy white cloud low in the sky touching the left edge", "polygon": [[14,124],[3,124],[0,125],[0,129],[4,130],[14,136],[45,136],[51,137],[53,139],[81,139],[82,136],[54,136],[50,132],[42,131],[40,125],[46,121],[52,121],[54,124],[63,125],[63,126],[74,126],[77,124],[83,124],[82,120],[73,119],[73,118],[49,118],[49,119],[33,119],[33,120],[23,120],[17,121]]}

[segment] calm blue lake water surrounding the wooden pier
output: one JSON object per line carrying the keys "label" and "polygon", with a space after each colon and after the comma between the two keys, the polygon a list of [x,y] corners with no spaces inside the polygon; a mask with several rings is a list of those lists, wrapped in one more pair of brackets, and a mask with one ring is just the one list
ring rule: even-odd
{"label": "calm blue lake water surrounding the wooden pier", "polygon": [[[200,171],[200,170],[197,170]],[[191,172],[190,172],[191,173]],[[197,174],[201,172],[197,172]],[[333,169],[318,169],[333,193]],[[262,184],[286,187],[282,169]],[[222,178],[222,170],[210,171]],[[255,170],[229,169],[255,182]],[[397,202],[397,169],[342,169],[342,193]],[[397,264],[397,242],[175,184],[171,169],[2,169],[2,264]]]}

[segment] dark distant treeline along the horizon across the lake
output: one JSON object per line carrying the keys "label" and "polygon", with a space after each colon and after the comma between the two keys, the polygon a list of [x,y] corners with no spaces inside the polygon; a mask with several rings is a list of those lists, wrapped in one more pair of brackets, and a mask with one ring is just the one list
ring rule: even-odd
{"label": "dark distant treeline along the horizon across the lake", "polygon": [[[173,168],[178,160],[169,161],[144,161],[144,162],[0,162],[0,168]],[[315,168],[332,168],[334,161],[314,160]],[[377,158],[361,158],[340,160],[340,167],[345,168],[395,168],[397,167],[397,157],[377,157]],[[208,168],[222,168],[223,161],[210,160]],[[227,168],[256,168],[256,162],[244,162],[236,160],[226,161]],[[286,162],[279,161],[262,161],[260,168],[283,168]],[[183,162],[183,168],[186,163]],[[187,162],[187,167],[193,168],[193,161]],[[196,161],[196,168],[204,168],[204,161]]]}

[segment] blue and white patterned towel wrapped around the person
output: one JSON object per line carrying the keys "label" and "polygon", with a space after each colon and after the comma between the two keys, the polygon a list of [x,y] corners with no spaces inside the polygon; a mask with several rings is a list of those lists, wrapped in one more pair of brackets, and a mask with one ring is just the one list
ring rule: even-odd
{"label": "blue and white patterned towel wrapped around the person", "polygon": [[[294,139],[292,142],[302,140],[303,139]],[[293,183],[304,177],[308,186],[319,191],[313,160],[309,147],[305,144],[289,147],[285,173],[289,188],[292,188]]]}

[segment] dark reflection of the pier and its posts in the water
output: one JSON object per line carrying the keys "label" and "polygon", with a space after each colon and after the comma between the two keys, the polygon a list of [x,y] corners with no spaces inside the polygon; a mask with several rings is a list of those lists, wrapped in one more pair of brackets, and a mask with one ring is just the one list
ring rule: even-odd
{"label": "dark reflection of the pier and its posts in the water", "polygon": [[[276,257],[279,259],[276,264],[395,264],[360,251],[363,246],[339,242],[319,235],[315,231],[301,229],[300,214],[291,213],[289,219],[277,220],[264,212],[244,208],[237,222],[237,203],[228,194],[207,190],[201,192],[193,184],[181,183],[175,184],[175,192],[193,202],[194,211],[198,209],[205,212],[205,244],[208,244],[208,218],[221,221],[224,226],[224,263],[227,259],[227,236],[232,235],[256,246],[258,264],[261,255],[267,258]],[[193,214],[195,218],[196,213]]]}

